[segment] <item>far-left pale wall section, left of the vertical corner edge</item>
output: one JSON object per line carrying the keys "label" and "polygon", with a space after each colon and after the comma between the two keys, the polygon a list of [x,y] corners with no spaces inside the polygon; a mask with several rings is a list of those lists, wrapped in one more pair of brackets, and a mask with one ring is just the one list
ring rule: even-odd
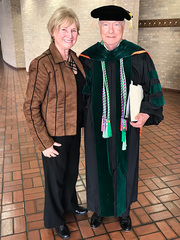
{"label": "far-left pale wall section, left of the vertical corner edge", "polygon": [[3,59],[9,65],[25,66],[20,0],[0,2],[0,34]]}

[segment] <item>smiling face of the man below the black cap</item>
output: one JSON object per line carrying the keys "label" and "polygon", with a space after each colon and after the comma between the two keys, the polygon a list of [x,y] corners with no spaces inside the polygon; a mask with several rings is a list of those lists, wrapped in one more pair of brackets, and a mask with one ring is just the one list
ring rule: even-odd
{"label": "smiling face of the man below the black cap", "polygon": [[109,51],[115,49],[120,43],[124,33],[123,21],[100,21],[101,38]]}

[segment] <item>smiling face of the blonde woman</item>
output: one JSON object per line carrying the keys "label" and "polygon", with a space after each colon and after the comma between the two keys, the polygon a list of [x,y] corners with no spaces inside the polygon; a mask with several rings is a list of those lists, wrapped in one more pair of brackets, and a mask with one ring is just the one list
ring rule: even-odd
{"label": "smiling face of the blonde woman", "polygon": [[68,26],[67,21],[63,22],[59,29],[53,31],[52,36],[54,37],[55,45],[60,52],[69,50],[77,41],[78,30],[76,23],[73,22],[72,25]]}

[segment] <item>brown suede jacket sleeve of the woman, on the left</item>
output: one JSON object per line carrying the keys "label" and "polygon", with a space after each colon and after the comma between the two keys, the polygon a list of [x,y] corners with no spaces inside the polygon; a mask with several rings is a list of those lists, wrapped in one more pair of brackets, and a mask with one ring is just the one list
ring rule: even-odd
{"label": "brown suede jacket sleeve of the woman, on the left", "polygon": [[43,61],[34,59],[29,67],[29,82],[23,111],[30,133],[40,151],[54,144],[41,113],[41,105],[47,93],[49,80]]}

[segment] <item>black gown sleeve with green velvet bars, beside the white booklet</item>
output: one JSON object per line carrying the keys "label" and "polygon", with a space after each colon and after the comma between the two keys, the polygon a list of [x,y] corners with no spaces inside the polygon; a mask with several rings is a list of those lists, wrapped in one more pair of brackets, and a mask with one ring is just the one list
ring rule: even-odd
{"label": "black gown sleeve with green velvet bars, beside the white booklet", "polygon": [[158,125],[164,118],[164,97],[154,63],[147,52],[132,56],[132,80],[143,87],[140,112],[150,116],[145,125]]}

